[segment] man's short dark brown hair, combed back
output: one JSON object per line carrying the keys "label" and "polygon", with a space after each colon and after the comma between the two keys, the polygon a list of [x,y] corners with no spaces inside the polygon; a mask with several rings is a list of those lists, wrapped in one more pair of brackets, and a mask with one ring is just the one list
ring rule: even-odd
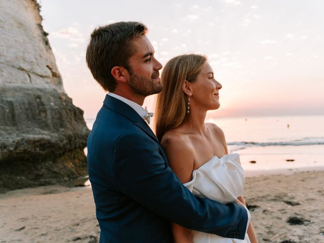
{"label": "man's short dark brown hair, combed back", "polygon": [[131,42],[146,32],[147,27],[139,22],[117,22],[92,32],[86,60],[93,77],[105,91],[116,88],[116,80],[111,75],[114,66],[131,71],[128,60],[135,52]]}

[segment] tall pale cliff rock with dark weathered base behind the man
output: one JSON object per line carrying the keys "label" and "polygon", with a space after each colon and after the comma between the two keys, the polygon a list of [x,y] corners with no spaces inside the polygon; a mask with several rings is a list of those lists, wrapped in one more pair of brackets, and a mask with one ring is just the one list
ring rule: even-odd
{"label": "tall pale cliff rock with dark weathered base behind the man", "polygon": [[0,0],[0,190],[87,174],[89,129],[66,95],[35,0]]}

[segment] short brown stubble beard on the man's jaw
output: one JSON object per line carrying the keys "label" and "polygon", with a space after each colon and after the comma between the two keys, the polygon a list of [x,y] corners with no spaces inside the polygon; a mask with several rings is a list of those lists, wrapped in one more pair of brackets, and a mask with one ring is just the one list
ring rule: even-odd
{"label": "short brown stubble beard on the man's jaw", "polygon": [[145,97],[158,94],[162,91],[161,83],[154,84],[152,78],[146,78],[143,75],[135,73],[130,75],[128,84],[134,93]]}

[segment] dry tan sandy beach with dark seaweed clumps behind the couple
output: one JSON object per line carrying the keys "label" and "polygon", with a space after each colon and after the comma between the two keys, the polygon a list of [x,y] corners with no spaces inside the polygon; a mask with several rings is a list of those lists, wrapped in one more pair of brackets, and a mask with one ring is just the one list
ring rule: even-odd
{"label": "dry tan sandy beach with dark seaweed clumps behind the couple", "polygon": [[[259,242],[324,242],[324,171],[246,178]],[[91,187],[0,194],[0,242],[98,242]]]}

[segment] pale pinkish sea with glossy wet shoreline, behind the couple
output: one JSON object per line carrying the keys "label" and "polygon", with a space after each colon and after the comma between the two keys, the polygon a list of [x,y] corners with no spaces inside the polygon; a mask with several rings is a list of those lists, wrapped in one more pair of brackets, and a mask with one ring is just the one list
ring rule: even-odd
{"label": "pale pinkish sea with glossy wet shoreline, behind the couple", "polygon": [[[208,118],[247,176],[324,170],[324,115]],[[92,129],[94,119],[86,119]]]}

